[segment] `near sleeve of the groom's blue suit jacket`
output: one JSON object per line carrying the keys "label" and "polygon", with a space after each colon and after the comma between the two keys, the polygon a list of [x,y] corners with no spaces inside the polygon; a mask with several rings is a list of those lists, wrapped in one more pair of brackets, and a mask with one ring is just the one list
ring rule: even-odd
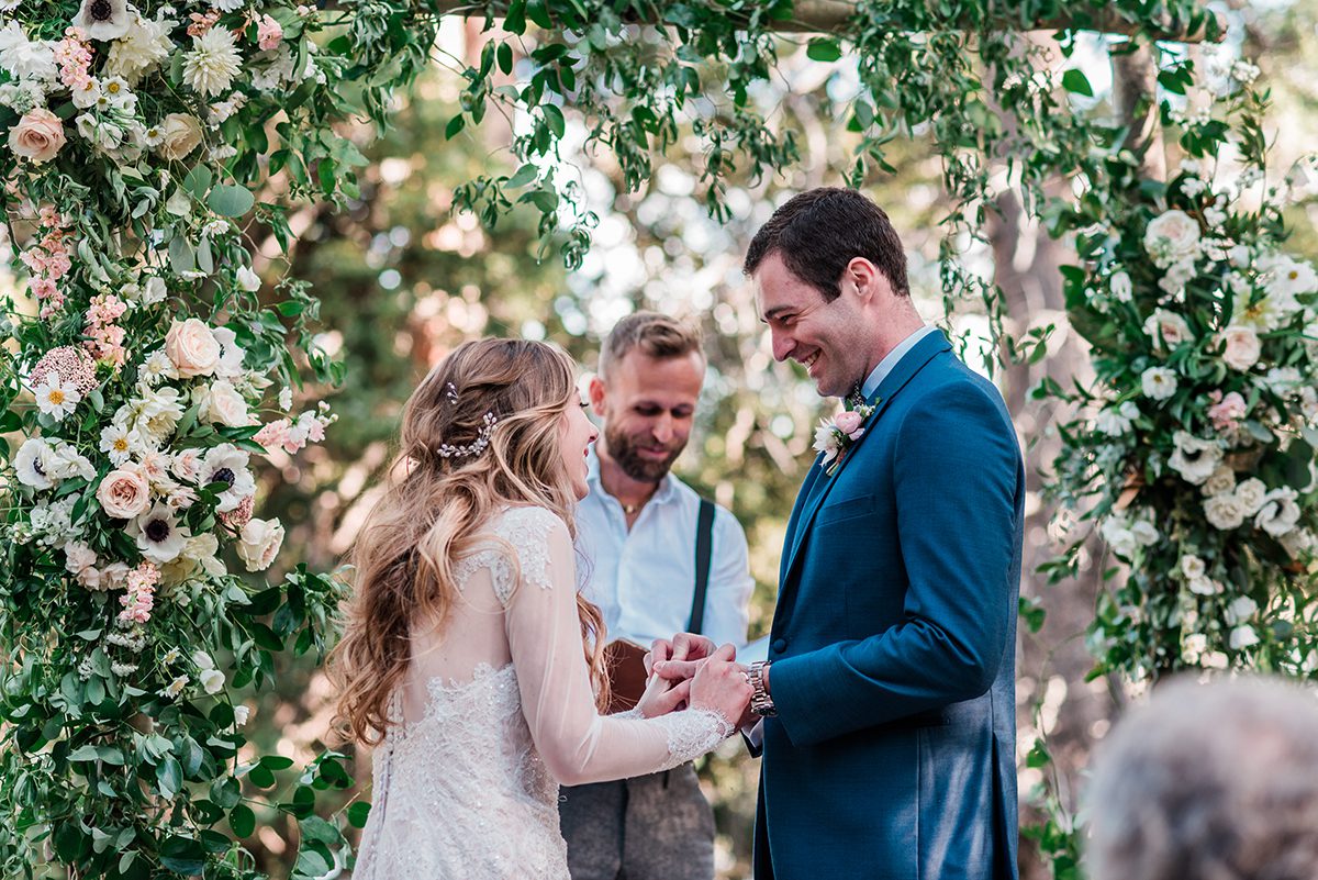
{"label": "near sleeve of the groom's blue suit jacket", "polygon": [[[992,685],[1012,649],[1020,449],[988,394],[958,382],[904,414],[891,465],[909,581],[903,619],[774,663],[770,690],[793,744],[971,700]],[[887,564],[895,563],[874,560]]]}

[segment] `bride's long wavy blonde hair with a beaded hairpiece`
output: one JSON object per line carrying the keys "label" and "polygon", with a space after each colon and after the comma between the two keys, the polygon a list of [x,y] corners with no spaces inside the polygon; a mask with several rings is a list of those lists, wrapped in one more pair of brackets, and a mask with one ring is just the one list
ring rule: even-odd
{"label": "bride's long wavy blonde hair with a beaded hairpiece", "polygon": [[[443,627],[457,595],[455,564],[501,506],[547,507],[576,537],[576,494],[560,441],[567,408],[580,406],[573,373],[572,360],[552,345],[486,339],[456,348],[407,399],[395,478],[353,544],[355,593],[330,661],[336,722],[352,739],[372,744],[387,730],[413,626]],[[482,435],[488,412],[496,422]],[[477,454],[439,454],[440,445],[471,447],[482,436],[488,445]],[[580,593],[576,602],[604,706],[604,619]]]}

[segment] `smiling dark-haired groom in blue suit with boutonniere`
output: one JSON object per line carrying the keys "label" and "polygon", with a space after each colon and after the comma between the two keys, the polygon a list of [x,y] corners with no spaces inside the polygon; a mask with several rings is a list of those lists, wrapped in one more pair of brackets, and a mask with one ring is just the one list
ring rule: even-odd
{"label": "smiling dark-haired groom in blue suit with boutonniere", "polygon": [[[755,877],[1015,879],[1025,481],[1002,397],[924,325],[902,242],[858,192],[787,202],[745,270],[774,357],[873,407],[805,477],[768,661],[747,669]],[[652,659],[681,678],[712,651],[681,634]]]}

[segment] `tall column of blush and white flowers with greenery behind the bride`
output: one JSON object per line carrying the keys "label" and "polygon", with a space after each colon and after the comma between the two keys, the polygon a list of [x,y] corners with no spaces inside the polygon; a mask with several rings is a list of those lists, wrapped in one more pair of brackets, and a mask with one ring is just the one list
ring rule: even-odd
{"label": "tall column of blush and white flowers with greenery behind the bride", "polygon": [[[24,282],[0,324],[0,432],[21,440],[0,444],[4,876],[260,876],[235,838],[293,761],[254,752],[240,692],[274,652],[326,648],[343,588],[253,577],[283,541],[253,457],[323,439],[303,378],[341,365],[253,242],[289,246],[290,204],[356,195],[365,159],[331,126],[381,119],[432,33],[386,3],[0,3]],[[349,784],[327,754],[279,805],[295,876],[341,860],[315,794]]]}

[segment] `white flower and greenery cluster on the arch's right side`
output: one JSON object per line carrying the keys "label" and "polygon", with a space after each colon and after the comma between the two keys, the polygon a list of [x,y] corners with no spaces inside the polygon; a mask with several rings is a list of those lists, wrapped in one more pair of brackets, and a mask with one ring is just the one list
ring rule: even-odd
{"label": "white flower and greenery cluster on the arch's right side", "polygon": [[1066,296],[1095,377],[1041,389],[1079,416],[1053,490],[1123,564],[1090,630],[1095,673],[1318,669],[1318,273],[1282,250],[1307,166],[1269,180],[1256,76],[1236,61],[1198,84],[1190,62],[1169,66],[1161,123],[1180,159],[1165,182],[1107,154],[1118,184],[1060,217],[1085,261]]}

